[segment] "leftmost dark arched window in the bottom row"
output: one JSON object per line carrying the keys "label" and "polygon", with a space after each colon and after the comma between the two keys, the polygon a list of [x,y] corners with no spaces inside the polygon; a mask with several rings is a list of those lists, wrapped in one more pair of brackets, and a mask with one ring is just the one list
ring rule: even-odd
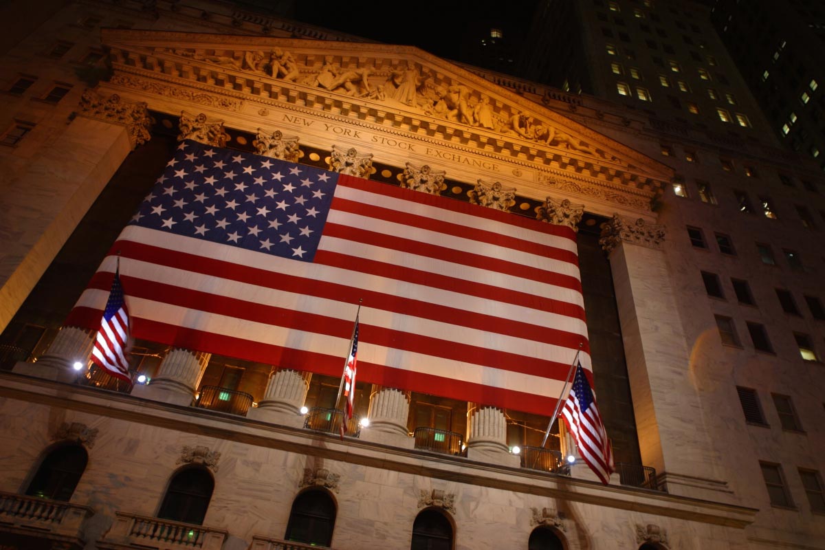
{"label": "leftmost dark arched window in the bottom row", "polygon": [[52,450],[31,478],[26,495],[42,496],[55,501],[69,501],[78,487],[88,454],[82,445],[68,444]]}

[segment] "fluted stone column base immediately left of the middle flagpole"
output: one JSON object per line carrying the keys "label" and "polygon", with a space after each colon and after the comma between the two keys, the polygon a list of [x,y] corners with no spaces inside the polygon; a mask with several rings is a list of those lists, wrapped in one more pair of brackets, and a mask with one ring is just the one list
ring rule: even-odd
{"label": "fluted stone column base immediately left of the middle flagpole", "polygon": [[263,399],[257,407],[249,409],[247,418],[295,428],[303,426],[300,408],[304,406],[310,380],[312,373],[290,369],[273,371]]}

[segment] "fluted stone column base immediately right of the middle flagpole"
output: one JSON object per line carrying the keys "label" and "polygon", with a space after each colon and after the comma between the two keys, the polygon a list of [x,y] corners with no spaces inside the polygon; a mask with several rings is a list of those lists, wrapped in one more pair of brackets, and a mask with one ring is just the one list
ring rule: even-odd
{"label": "fluted stone column base immediately right of the middle flagpole", "polygon": [[407,418],[410,394],[396,388],[373,384],[370,393],[370,425],[361,428],[361,439],[413,449],[415,440],[409,435]]}

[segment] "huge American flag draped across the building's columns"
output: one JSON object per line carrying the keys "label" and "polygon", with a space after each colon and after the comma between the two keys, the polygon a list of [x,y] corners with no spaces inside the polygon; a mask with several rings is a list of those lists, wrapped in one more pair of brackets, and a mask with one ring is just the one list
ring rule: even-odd
{"label": "huge American flag draped across the building's columns", "polygon": [[[192,141],[111,247],[133,335],[547,415],[587,327],[573,229]],[[67,320],[99,319],[101,263]]]}

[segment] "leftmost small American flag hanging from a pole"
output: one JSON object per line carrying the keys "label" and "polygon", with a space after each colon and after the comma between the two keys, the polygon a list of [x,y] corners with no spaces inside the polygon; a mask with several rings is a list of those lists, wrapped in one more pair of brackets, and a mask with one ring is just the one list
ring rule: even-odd
{"label": "leftmost small American flag hanging from a pole", "polygon": [[120,285],[120,273],[115,268],[115,278],[111,281],[106,309],[97,328],[92,363],[115,378],[131,382],[129,361],[125,356],[128,342],[129,310],[126,308],[123,287]]}

